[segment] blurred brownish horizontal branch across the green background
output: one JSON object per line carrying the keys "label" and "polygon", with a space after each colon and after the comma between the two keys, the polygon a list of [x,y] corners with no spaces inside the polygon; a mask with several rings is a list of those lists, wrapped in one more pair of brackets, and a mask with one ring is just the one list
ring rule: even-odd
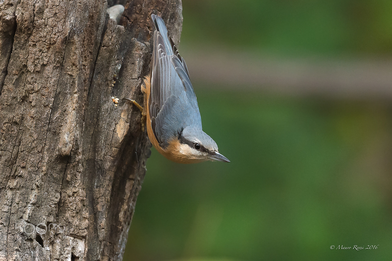
{"label": "blurred brownish horizontal branch across the green background", "polygon": [[191,79],[227,88],[334,98],[392,98],[392,60],[274,58],[208,47],[180,49]]}

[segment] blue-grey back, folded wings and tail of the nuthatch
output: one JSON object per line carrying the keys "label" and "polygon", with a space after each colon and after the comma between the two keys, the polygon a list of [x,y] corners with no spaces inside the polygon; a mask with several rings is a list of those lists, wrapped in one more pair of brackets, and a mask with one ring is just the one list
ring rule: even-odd
{"label": "blue-grey back, folded wings and tail of the nuthatch", "polygon": [[201,117],[185,61],[172,44],[162,18],[152,15],[152,19],[157,31],[154,32],[149,111],[154,135],[165,148],[185,127],[201,129]]}

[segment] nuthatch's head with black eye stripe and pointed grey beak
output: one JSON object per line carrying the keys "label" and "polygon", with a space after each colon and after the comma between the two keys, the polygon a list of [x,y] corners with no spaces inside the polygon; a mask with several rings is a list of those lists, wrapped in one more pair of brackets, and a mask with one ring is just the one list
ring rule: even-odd
{"label": "nuthatch's head with black eye stripe and pointed grey beak", "polygon": [[176,153],[182,163],[199,161],[224,161],[230,162],[218,152],[218,146],[203,130],[187,127],[178,135]]}

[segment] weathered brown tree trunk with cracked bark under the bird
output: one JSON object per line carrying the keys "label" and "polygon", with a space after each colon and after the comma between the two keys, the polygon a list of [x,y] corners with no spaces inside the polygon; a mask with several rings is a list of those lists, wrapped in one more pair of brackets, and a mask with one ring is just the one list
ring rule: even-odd
{"label": "weathered brown tree trunk with cracked bark under the bird", "polygon": [[179,42],[181,0],[106,9],[0,2],[0,260],[122,260],[151,143],[121,98],[143,100],[151,13]]}

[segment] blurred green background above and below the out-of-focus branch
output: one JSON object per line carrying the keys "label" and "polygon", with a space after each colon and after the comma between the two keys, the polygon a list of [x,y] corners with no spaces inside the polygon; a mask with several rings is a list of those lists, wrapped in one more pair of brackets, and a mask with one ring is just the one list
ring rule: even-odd
{"label": "blurred green background above and below the out-of-focus branch", "polygon": [[[183,17],[185,60],[194,46],[392,54],[390,0],[183,0]],[[391,97],[293,96],[190,74],[203,130],[231,163],[180,165],[152,149],[125,261],[390,260]]]}

